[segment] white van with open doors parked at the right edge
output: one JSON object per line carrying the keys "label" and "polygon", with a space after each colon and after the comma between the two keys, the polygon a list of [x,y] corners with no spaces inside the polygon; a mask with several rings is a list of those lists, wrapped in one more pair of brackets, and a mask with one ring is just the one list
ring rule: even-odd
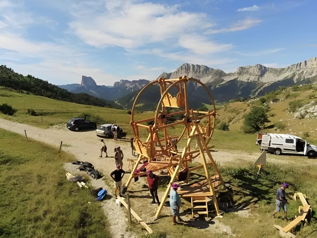
{"label": "white van with open doors parked at the right edge", "polygon": [[302,138],[293,135],[275,133],[264,135],[258,133],[256,144],[261,145],[261,149],[275,155],[284,153],[310,157],[317,156],[317,147],[315,145],[311,145]]}

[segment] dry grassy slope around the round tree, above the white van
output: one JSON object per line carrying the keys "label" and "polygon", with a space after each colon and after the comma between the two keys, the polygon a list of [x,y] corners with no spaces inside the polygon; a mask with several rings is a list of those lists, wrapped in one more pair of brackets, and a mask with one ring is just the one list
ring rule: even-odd
{"label": "dry grassy slope around the round tree, above the white van", "polygon": [[[304,87],[304,86],[303,86]],[[317,118],[294,118],[294,112],[288,112],[289,102],[300,100],[303,105],[317,101],[317,85],[311,89],[303,89],[299,92],[286,90],[277,94],[275,97],[279,100],[276,103],[268,103],[270,110],[268,112],[269,120],[263,133],[281,133],[289,134],[294,132],[296,136],[304,137],[303,133],[308,132],[309,137],[305,139],[312,143],[317,144]],[[240,130],[243,124],[243,116],[249,112],[252,106],[257,105],[258,102],[232,102],[225,104],[221,109],[218,109],[219,122],[227,122],[230,124],[230,131]],[[285,126],[285,129],[279,131],[273,129],[275,124],[279,122]],[[256,136],[255,136],[256,137]]]}

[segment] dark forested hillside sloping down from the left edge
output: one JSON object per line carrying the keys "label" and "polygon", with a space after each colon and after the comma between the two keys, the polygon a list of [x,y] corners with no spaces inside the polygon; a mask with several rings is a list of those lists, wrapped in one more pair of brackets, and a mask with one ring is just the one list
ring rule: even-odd
{"label": "dark forested hillside sloping down from the left edge", "polygon": [[6,65],[0,66],[0,86],[23,90],[37,96],[44,96],[56,100],[75,102],[84,105],[93,105],[100,107],[120,107],[112,101],[100,99],[86,93],[71,93],[66,89],[57,87],[42,79],[32,75],[23,76],[7,68]]}

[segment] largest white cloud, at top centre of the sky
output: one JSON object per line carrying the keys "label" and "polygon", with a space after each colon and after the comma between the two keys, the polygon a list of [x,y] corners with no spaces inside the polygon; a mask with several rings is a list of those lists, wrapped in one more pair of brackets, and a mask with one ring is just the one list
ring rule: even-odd
{"label": "largest white cloud, at top centre of the sky", "polygon": [[[111,4],[110,4],[111,3]],[[126,48],[147,43],[177,41],[180,35],[212,26],[204,13],[180,11],[176,6],[154,3],[107,2],[100,6],[75,6],[70,30],[96,47],[118,45]],[[78,8],[82,9],[81,14]],[[112,11],[109,11],[112,10]],[[91,14],[93,13],[93,14]]]}

